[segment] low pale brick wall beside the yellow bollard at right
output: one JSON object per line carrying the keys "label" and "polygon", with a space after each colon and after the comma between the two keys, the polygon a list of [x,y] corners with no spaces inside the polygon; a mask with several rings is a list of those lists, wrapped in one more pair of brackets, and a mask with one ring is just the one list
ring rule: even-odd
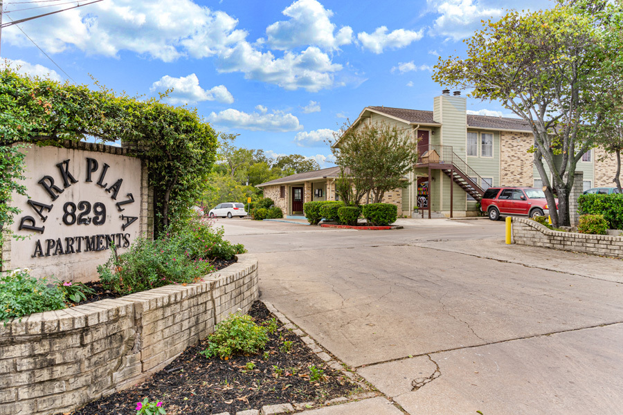
{"label": "low pale brick wall beside the yellow bollard at right", "polygon": [[513,218],[513,239],[520,245],[542,246],[623,259],[623,237],[558,232],[532,219]]}

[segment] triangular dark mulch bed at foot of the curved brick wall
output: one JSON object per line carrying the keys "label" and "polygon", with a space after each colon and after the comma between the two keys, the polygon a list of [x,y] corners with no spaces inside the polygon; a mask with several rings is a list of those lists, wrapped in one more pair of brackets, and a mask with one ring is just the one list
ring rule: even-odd
{"label": "triangular dark mulch bed at foot of the curved brick wall", "polygon": [[[259,301],[253,303],[249,314],[258,324],[267,324],[272,317]],[[71,414],[135,415],[136,403],[149,397],[150,401],[161,400],[168,415],[233,415],[264,405],[322,403],[361,391],[340,371],[325,366],[297,335],[278,325],[258,355],[207,359],[199,354],[208,345],[203,340],[142,385],[96,400]],[[324,371],[322,380],[310,381],[311,365]]]}

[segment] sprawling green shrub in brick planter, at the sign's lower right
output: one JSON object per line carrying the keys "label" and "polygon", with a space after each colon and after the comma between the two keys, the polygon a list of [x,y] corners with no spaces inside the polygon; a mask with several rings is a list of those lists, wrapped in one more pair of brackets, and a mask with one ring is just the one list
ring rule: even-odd
{"label": "sprawling green shrub in brick planter, at the sign's lower right", "polygon": [[232,259],[245,252],[241,244],[223,239],[224,230],[208,221],[195,220],[179,232],[151,241],[138,238],[121,255],[114,250],[106,264],[98,266],[100,281],[118,295],[138,293],[168,284],[188,284],[211,273],[214,259]]}

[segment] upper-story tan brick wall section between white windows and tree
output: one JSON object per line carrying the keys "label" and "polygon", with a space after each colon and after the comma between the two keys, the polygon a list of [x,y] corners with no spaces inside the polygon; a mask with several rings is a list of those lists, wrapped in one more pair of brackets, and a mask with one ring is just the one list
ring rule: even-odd
{"label": "upper-story tan brick wall section between white windows and tree", "polygon": [[[534,144],[532,133],[501,132],[500,186],[533,186],[532,160],[527,150]],[[495,183],[494,183],[495,184]]]}

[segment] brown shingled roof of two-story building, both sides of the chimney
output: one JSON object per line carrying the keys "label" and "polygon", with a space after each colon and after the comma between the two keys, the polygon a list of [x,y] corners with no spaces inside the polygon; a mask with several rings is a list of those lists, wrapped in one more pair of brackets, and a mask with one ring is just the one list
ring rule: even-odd
{"label": "brown shingled roof of two-story building, both sides of the chimney", "polygon": [[[441,125],[433,120],[433,111],[420,111],[419,109],[405,109],[392,107],[368,107],[372,111],[386,114],[390,117],[399,118],[413,124]],[[467,127],[500,129],[511,131],[532,132],[530,124],[518,118],[503,118],[491,116],[467,116]]]}

